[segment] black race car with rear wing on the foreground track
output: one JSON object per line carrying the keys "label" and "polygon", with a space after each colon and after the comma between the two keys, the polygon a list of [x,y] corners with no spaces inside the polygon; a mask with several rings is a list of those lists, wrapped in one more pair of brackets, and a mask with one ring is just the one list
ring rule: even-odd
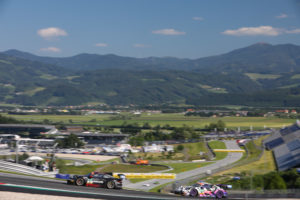
{"label": "black race car with rear wing on the foreground track", "polygon": [[112,174],[89,173],[87,175],[73,175],[67,180],[67,184],[87,187],[102,187],[108,189],[122,189],[124,175],[120,174],[115,178]]}

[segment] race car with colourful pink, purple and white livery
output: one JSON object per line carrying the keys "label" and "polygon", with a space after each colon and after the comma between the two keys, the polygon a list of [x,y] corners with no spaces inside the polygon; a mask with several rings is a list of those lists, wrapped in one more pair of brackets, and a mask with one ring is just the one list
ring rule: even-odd
{"label": "race car with colourful pink, purple and white livery", "polygon": [[212,185],[209,183],[198,182],[192,186],[179,186],[174,192],[175,194],[181,194],[183,196],[221,199],[227,197],[227,192],[223,186],[224,185]]}

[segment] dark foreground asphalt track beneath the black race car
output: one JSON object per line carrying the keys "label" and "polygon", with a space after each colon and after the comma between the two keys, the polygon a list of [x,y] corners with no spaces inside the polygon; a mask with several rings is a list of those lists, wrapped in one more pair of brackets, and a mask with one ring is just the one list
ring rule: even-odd
{"label": "dark foreground asphalt track beneath the black race car", "polygon": [[[5,183],[5,184],[2,184]],[[108,190],[67,185],[66,181],[0,173],[0,192],[13,191],[31,194],[99,198],[99,199],[194,199],[133,190]]]}

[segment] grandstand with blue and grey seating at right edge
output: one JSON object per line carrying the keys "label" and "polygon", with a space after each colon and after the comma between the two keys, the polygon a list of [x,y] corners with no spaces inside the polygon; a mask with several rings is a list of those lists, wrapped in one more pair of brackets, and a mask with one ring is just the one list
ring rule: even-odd
{"label": "grandstand with blue and grey seating at right edge", "polygon": [[279,171],[300,165],[300,121],[276,131],[264,141],[265,147],[273,150]]}

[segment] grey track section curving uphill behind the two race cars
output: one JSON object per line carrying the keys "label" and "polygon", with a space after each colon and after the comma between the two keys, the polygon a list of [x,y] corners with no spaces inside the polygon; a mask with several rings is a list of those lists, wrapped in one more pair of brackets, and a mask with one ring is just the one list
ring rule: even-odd
{"label": "grey track section curving uphill behind the two race cars", "polygon": [[[227,149],[240,149],[240,147],[237,145],[235,140],[225,140],[224,141],[226,148]],[[176,179],[151,179],[151,180],[147,180],[147,181],[143,181],[143,182],[138,182],[138,183],[130,183],[129,181],[126,182],[126,187],[127,188],[131,188],[131,189],[140,189],[140,190],[150,190],[154,187],[157,187],[158,185],[162,185],[168,182],[172,182],[172,181],[179,181],[182,179],[186,179],[186,178],[190,178],[196,175],[200,175],[200,174],[204,174],[208,171],[212,171],[215,169],[218,169],[220,167],[224,167],[226,165],[229,165],[231,163],[234,163],[236,161],[238,161],[239,159],[241,159],[243,156],[243,153],[228,153],[227,157],[222,159],[222,160],[218,160],[217,162],[211,164],[211,165],[207,165],[201,168],[197,168],[194,170],[190,170],[190,171],[186,171],[186,172],[182,172],[176,175]],[[154,184],[159,182],[159,184]],[[148,186],[145,186],[148,185]]]}

